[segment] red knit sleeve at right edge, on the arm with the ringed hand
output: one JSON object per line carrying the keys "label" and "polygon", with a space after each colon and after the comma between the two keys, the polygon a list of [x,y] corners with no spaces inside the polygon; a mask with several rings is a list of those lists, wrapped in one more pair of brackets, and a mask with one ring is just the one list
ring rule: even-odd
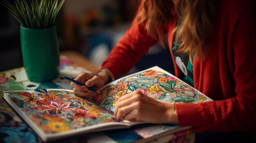
{"label": "red knit sleeve at right edge, on the arm with the ringed hand", "polygon": [[[237,0],[235,1],[237,2]],[[229,0],[229,2],[233,1]],[[256,5],[255,1],[250,3],[249,0],[245,0],[237,9],[234,9],[234,12],[228,10],[227,12],[232,12],[229,14],[233,17],[230,21],[223,22],[223,24],[233,22],[233,24],[227,25],[226,35],[222,35],[222,39],[226,40],[225,46],[229,50],[227,53],[230,53],[230,56],[226,57],[229,61],[227,66],[234,67],[234,71],[229,68],[230,74],[220,79],[222,84],[225,83],[225,77],[234,79],[233,83],[229,82],[234,85],[226,83],[225,87],[220,83],[220,87],[226,88],[226,91],[222,91],[223,97],[224,92],[229,92],[229,98],[225,99],[224,97],[223,100],[198,104],[175,104],[179,125],[191,125],[195,127],[196,131],[256,130],[256,66],[254,63],[256,62],[256,17],[254,14],[256,11],[252,7],[253,5]],[[229,59],[230,57],[232,59]],[[214,72],[218,72],[218,70]],[[225,73],[216,74],[223,75]],[[211,88],[207,86],[207,83],[202,86]],[[230,86],[234,86],[234,91],[228,91]],[[231,95],[233,93],[234,95]]]}

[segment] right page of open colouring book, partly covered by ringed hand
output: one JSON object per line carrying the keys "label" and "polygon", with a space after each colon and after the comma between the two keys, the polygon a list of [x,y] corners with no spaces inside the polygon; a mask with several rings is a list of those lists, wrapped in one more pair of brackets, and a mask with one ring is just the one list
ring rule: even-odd
{"label": "right page of open colouring book, partly covered by ringed hand", "polygon": [[135,90],[166,103],[211,101],[209,97],[158,66],[117,79],[98,90],[101,93],[92,95],[90,100],[111,113],[120,97]]}

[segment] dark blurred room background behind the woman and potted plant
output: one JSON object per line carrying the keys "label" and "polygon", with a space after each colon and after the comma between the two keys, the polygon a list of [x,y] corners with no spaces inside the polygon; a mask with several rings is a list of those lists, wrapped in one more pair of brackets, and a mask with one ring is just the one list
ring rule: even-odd
{"label": "dark blurred room background behind the woman and potted plant", "polygon": [[[101,66],[129,29],[138,1],[65,0],[56,20],[60,51],[76,51]],[[0,71],[22,66],[19,28],[18,21],[0,4]],[[151,47],[130,73],[156,65],[173,73],[168,46],[166,50],[159,44]]]}

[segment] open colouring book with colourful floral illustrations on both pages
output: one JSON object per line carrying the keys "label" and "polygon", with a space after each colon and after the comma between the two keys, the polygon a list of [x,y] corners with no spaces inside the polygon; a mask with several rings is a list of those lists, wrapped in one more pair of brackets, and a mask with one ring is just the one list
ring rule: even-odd
{"label": "open colouring book with colourful floral illustrations on both pages", "polygon": [[[119,97],[135,90],[166,103],[211,101],[209,97],[157,66],[112,81],[98,90],[101,93],[94,93],[88,99],[65,89],[4,91],[4,99],[42,141],[141,124],[117,121],[113,117]],[[188,128],[177,127],[169,133]]]}

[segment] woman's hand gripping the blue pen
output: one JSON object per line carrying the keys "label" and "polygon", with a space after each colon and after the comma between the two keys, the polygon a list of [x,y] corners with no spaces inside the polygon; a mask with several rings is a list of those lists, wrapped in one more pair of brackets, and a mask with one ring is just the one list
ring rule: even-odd
{"label": "woman's hand gripping the blue pen", "polygon": [[[88,87],[94,86],[99,88],[108,82],[108,78],[105,72],[99,72],[97,74],[82,72],[74,80],[84,83]],[[74,94],[81,97],[88,96],[92,93],[86,86],[80,86],[74,82],[71,82],[70,86],[73,87]]]}

